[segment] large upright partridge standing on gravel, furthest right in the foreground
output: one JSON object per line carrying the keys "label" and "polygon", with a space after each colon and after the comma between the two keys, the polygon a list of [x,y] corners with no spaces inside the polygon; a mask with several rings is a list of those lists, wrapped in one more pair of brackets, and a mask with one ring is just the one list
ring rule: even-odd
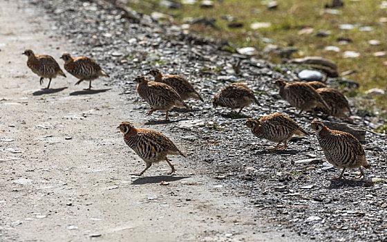
{"label": "large upright partridge standing on gravel, furthest right in the foreground", "polygon": [[357,178],[365,177],[361,167],[370,169],[370,165],[368,165],[366,153],[357,138],[350,133],[330,130],[319,120],[312,121],[311,127],[317,134],[317,140],[328,162],[334,167],[343,168],[340,176],[334,177],[335,180],[343,178],[346,169],[359,168],[360,174]]}

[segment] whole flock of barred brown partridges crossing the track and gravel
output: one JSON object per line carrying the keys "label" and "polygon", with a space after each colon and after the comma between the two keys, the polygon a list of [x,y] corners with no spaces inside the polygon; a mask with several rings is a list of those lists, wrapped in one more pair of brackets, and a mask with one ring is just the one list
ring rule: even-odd
{"label": "whole flock of barred brown partridges crossing the track and gravel", "polygon": [[[58,75],[66,77],[59,64],[50,55],[35,55],[32,50],[25,50],[23,55],[28,57],[27,66],[40,77],[40,84],[43,84],[44,78],[49,79],[46,89],[50,88],[53,78]],[[89,57],[71,57],[70,54],[64,53],[60,58],[64,60],[64,69],[79,79],[76,85],[83,81],[89,82],[88,90],[92,87],[92,80],[101,76],[109,77],[100,65]],[[166,113],[164,121],[167,121],[169,120],[169,111],[174,107],[189,109],[185,100],[193,98],[205,102],[193,85],[180,75],[163,75],[157,68],[151,68],[147,75],[153,76],[154,81],[149,81],[147,77],[140,75],[135,78],[134,82],[138,84],[137,91],[140,97],[151,106],[148,115],[154,111],[162,111]],[[279,87],[279,95],[283,100],[299,109],[299,114],[303,111],[310,111],[314,117],[317,117],[316,113],[321,112],[337,118],[346,118],[348,122],[352,123],[349,117],[351,111],[348,100],[337,89],[332,89],[322,82],[276,80],[274,84]],[[214,108],[223,106],[229,109],[239,109],[238,114],[245,106],[252,103],[261,106],[254,91],[249,89],[246,84],[239,82],[225,86],[212,100]],[[245,125],[254,136],[276,142],[277,145],[270,150],[286,149],[287,141],[294,135],[310,135],[292,118],[283,113],[272,113],[260,119],[248,118]],[[330,130],[319,120],[312,121],[310,127],[316,133],[319,145],[328,162],[334,167],[343,169],[340,176],[334,177],[334,179],[342,179],[346,169],[357,168],[360,169],[360,174],[355,180],[365,177],[362,167],[370,169],[370,165],[357,138],[350,133]],[[185,154],[160,132],[136,129],[130,122],[122,122],[117,129],[124,133],[126,145],[131,147],[146,164],[143,171],[133,175],[142,176],[153,163],[162,160],[167,161],[171,167],[169,174],[173,174],[175,167],[167,156],[180,155],[185,157]]]}

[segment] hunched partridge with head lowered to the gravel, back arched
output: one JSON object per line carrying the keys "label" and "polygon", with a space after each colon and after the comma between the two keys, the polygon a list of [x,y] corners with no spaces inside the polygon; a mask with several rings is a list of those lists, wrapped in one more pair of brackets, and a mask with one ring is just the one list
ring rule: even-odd
{"label": "hunched partridge with head lowered to the gravel, back arched", "polygon": [[252,89],[249,89],[246,84],[239,82],[225,86],[212,100],[214,108],[217,106],[225,106],[230,109],[240,109],[238,114],[245,106],[248,106],[252,102],[255,102],[259,105]]}

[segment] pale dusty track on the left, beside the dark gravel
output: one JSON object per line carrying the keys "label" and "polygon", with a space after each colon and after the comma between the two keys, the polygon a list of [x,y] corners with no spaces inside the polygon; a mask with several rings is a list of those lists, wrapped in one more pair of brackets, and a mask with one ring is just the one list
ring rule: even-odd
{"label": "pale dusty track on the left, beside the dark gravel", "polygon": [[59,56],[82,46],[53,36],[39,13],[17,1],[0,6],[0,241],[283,240],[245,198],[225,196],[220,183],[193,169],[195,160],[172,158],[175,176],[163,175],[164,163],[144,178],[129,176],[144,163],[115,127],[128,118],[140,127],[143,113],[106,78],[93,93],[70,75],[41,91],[23,50],[53,55],[62,66]]}

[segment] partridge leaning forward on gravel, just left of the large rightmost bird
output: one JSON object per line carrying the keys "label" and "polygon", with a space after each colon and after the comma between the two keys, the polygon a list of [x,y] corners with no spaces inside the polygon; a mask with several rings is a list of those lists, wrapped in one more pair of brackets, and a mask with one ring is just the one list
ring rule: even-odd
{"label": "partridge leaning forward on gravel, just left of the large rightmost bird", "polygon": [[[306,131],[299,127],[299,124],[282,113],[265,115],[260,120],[249,118],[246,121],[246,126],[251,129],[254,136],[278,142],[276,147],[269,150],[286,149],[287,140],[290,140],[294,134],[296,136],[308,135]],[[284,142],[283,147],[280,146],[281,142]]]}

